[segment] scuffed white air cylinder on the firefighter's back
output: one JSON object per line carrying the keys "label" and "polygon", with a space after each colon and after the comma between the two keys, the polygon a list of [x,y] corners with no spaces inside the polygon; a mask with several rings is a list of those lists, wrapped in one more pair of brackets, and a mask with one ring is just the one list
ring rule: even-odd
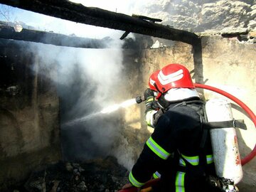
{"label": "scuffed white air cylinder on the firefighter's back", "polygon": [[[208,122],[233,120],[230,102],[224,99],[208,100],[206,114]],[[210,139],[217,176],[231,179],[234,184],[241,181],[242,165],[235,128],[210,129]]]}

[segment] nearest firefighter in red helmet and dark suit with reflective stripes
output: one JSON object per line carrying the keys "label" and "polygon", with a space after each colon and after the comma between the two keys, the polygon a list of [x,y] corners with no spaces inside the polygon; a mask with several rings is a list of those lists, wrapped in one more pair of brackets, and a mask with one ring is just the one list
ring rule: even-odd
{"label": "nearest firefighter in red helmet and dark suit with reflective stripes", "polygon": [[176,63],[166,65],[154,85],[157,102],[166,112],[156,122],[129,173],[130,183],[123,188],[140,188],[161,169],[157,191],[217,191],[208,184],[210,176],[215,176],[215,168],[209,132],[202,128],[206,121],[203,101],[188,69]]}

